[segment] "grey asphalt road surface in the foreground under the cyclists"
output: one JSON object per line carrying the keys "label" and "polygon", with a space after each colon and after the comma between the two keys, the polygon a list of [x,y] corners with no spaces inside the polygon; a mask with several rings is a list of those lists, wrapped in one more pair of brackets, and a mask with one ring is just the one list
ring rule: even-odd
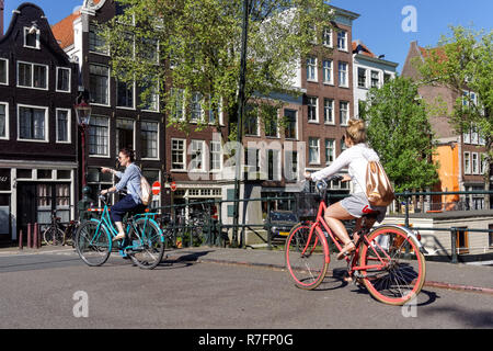
{"label": "grey asphalt road surface in the foreground under the cyclists", "polygon": [[284,271],[164,262],[139,270],[113,254],[89,268],[76,253],[0,256],[0,328],[395,329],[493,328],[493,296],[425,287],[392,307],[329,276],[296,288]]}

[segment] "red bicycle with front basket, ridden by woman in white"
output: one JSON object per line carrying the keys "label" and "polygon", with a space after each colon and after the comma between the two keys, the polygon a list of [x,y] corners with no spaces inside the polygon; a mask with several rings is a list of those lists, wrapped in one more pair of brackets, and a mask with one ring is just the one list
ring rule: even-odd
{"label": "red bicycle with front basket, ridden by woman in white", "polygon": [[[298,210],[308,210],[314,215],[317,201],[321,196],[316,220],[296,225],[285,246],[289,275],[296,286],[303,290],[317,288],[325,278],[331,261],[328,238],[339,251],[342,249],[323,218],[326,182],[317,182],[316,190],[318,194],[301,193],[297,204]],[[383,225],[372,230],[366,228],[366,220],[377,214],[363,217],[362,230],[355,242],[356,250],[345,257],[347,274],[356,283],[363,283],[379,302],[403,305],[417,296],[423,287],[426,274],[423,253],[426,251],[415,234],[405,227]]]}

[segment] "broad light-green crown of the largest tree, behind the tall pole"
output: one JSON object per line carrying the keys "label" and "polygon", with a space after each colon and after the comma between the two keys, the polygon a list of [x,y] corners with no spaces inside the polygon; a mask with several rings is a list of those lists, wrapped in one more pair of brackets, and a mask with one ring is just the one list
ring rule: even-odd
{"label": "broad light-green crown of the largest tree, behind the tall pole", "polygon": [[[236,131],[243,0],[117,3],[124,13],[103,25],[114,75],[137,81],[145,101],[158,92],[169,125],[190,132],[191,111],[199,104],[206,118],[195,128],[209,125],[209,112],[223,111]],[[330,7],[322,0],[249,4],[246,100],[260,104],[273,92],[300,93],[293,90],[296,68],[331,26]],[[213,118],[220,128],[218,120]]]}

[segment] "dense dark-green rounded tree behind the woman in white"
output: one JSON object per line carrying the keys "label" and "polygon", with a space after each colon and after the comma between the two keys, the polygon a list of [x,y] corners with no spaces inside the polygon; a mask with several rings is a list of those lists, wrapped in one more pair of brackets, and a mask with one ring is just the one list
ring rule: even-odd
{"label": "dense dark-green rounded tree behind the woman in white", "polygon": [[369,145],[380,156],[397,192],[424,190],[437,182],[426,105],[410,79],[398,76],[381,88],[370,89],[362,110]]}

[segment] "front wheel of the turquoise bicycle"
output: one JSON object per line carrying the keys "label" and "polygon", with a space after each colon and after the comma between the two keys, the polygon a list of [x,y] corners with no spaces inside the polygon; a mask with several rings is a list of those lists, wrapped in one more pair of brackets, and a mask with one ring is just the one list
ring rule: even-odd
{"label": "front wheel of the turquoise bicycle", "polygon": [[105,263],[112,253],[112,238],[106,227],[99,220],[81,224],[76,234],[76,251],[88,265]]}

